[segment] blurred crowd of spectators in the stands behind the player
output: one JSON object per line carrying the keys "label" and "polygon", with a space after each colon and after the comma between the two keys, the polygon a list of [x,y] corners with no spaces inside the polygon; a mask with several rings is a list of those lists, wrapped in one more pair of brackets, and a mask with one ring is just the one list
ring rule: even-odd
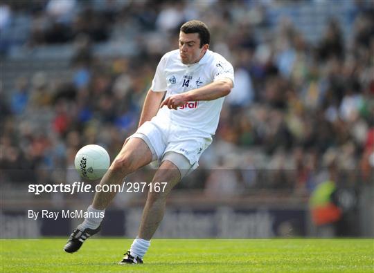
{"label": "blurred crowd of spectators in the stands behind the player", "polygon": [[[16,182],[73,182],[76,151],[100,144],[112,160],[134,133],[161,56],[177,48],[179,26],[201,19],[211,49],[229,59],[235,88],[226,97],[200,171],[179,187],[206,194],[243,189],[312,191],[335,182],[372,183],[374,175],[374,5],[350,1],[350,25],[331,17],[308,40],[281,6],[319,1],[3,1],[1,42],[71,44],[73,77],[19,77],[0,93],[0,168]],[[11,39],[15,21],[23,39]],[[22,27],[20,27],[22,26]],[[352,29],[345,35],[343,28]],[[103,58],[96,44],[132,43],[130,56]],[[66,171],[66,169],[68,171]],[[20,171],[21,170],[21,171]]]}

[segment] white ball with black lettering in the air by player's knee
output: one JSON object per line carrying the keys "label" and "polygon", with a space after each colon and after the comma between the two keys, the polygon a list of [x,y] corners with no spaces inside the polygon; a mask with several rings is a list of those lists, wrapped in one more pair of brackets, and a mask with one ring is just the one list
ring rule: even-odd
{"label": "white ball with black lettering in the air by player's knee", "polygon": [[96,180],[102,178],[110,164],[108,152],[99,145],[86,145],[75,156],[75,169],[82,178]]}

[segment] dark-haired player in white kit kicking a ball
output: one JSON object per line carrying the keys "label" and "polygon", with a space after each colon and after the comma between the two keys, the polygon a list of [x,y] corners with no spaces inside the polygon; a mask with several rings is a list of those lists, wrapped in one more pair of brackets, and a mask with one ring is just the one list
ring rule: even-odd
{"label": "dark-haired player in white kit kicking a ball", "polygon": [[[143,263],[150,239],[163,218],[166,197],[193,171],[217,129],[224,96],[233,88],[233,66],[208,50],[210,32],[202,21],[188,21],[179,32],[179,50],[166,53],[145,97],[139,128],[125,141],[100,185],[120,185],[137,169],[158,161],[152,185],[166,182],[163,192],[149,191],[138,236],[120,264]],[[165,100],[162,101],[165,95]],[[64,250],[72,253],[100,231],[103,212],[115,192],[97,192],[87,217],[73,231]],[[96,216],[96,217],[95,217]]]}

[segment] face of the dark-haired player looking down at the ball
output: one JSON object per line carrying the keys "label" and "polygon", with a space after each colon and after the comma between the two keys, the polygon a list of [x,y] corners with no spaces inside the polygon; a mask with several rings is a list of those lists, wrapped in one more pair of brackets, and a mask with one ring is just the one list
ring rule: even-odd
{"label": "face of the dark-haired player looking down at the ball", "polygon": [[183,64],[195,64],[204,56],[209,45],[200,48],[199,33],[179,32],[179,55]]}

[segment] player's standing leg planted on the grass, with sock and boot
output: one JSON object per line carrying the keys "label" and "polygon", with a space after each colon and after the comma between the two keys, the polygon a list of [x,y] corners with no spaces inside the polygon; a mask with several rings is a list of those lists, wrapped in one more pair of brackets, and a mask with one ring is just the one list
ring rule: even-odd
{"label": "player's standing leg planted on the grass, with sock and boot", "polygon": [[[148,198],[143,209],[138,236],[132,243],[130,252],[125,254],[121,263],[134,263],[134,261],[138,261],[138,263],[143,262],[141,259],[145,252],[147,252],[148,247],[150,247],[150,239],[154,232],[156,232],[163,218],[166,198],[179,180],[181,180],[181,173],[177,166],[168,160],[163,161],[154,174],[152,189],[150,188],[148,191]],[[165,189],[163,189],[163,184],[161,184],[163,182],[167,183]],[[155,191],[154,188],[154,185],[157,185],[157,183],[159,183],[161,189],[159,192]]]}

